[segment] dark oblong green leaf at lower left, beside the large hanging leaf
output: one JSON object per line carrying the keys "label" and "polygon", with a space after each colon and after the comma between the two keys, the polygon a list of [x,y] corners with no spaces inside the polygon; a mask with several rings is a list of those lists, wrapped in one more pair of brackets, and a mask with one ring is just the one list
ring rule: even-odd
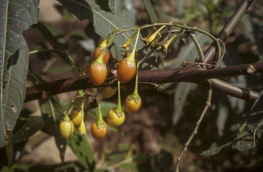
{"label": "dark oblong green leaf at lower left, beside the large hanging leaf", "polygon": [[12,143],[26,141],[38,130],[45,126],[45,121],[42,117],[32,117],[27,121],[13,136]]}

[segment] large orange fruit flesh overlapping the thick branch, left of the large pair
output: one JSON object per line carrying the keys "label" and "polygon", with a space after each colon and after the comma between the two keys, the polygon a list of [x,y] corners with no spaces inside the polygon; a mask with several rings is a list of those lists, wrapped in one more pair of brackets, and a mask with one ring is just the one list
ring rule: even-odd
{"label": "large orange fruit flesh overlapping the thick branch, left of the large pair", "polygon": [[91,82],[99,86],[101,85],[107,77],[107,67],[105,64],[101,66],[100,64],[92,63],[90,66],[90,80]]}

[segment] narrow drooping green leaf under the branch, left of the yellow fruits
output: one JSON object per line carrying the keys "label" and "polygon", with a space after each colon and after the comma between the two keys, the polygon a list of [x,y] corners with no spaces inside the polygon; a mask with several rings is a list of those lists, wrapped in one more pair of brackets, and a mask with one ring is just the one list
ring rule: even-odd
{"label": "narrow drooping green leaf under the branch, left of the yellow fruits", "polygon": [[60,106],[58,96],[49,96],[45,99],[38,100],[42,118],[45,120],[43,131],[55,137],[55,145],[60,151],[60,158],[64,162],[64,153],[66,150],[66,140],[60,135],[59,126],[60,120],[63,117],[63,112]]}

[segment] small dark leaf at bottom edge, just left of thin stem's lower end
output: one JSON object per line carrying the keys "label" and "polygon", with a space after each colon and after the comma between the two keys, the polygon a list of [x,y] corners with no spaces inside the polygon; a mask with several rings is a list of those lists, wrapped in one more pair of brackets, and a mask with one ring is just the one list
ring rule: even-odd
{"label": "small dark leaf at bottom edge, just left of thin stem's lower end", "polygon": [[161,171],[162,169],[168,169],[173,164],[173,155],[166,152],[164,149],[155,156],[155,171]]}

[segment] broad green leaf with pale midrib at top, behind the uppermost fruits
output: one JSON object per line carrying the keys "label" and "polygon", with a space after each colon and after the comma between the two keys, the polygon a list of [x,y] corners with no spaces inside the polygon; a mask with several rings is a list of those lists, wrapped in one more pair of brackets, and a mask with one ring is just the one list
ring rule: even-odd
{"label": "broad green leaf with pale midrib at top, behind the uppermost fruits", "polygon": [[[95,4],[92,0],[58,0],[64,8],[75,14],[80,20],[88,19],[90,20],[94,27],[95,32],[101,35],[101,37],[106,38],[111,31],[116,29],[129,29],[135,27],[131,21],[127,18],[122,18],[117,14],[112,14],[110,12],[105,12],[101,10],[100,6]],[[107,26],[107,27],[105,27]],[[129,33],[121,33],[114,38],[114,43],[119,50],[123,51],[119,46],[125,44],[129,38],[135,33],[135,31],[130,31]],[[142,36],[140,36],[142,37]],[[134,46],[135,40],[131,42],[131,46]],[[142,48],[143,43],[138,42],[137,49]],[[131,47],[131,49],[132,49]]]}

